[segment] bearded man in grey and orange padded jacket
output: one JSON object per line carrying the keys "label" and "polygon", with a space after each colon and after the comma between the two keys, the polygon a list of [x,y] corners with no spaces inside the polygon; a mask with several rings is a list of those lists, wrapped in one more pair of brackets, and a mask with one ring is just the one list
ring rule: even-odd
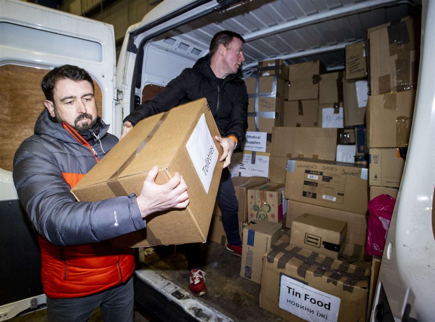
{"label": "bearded man in grey and orange padded jacket", "polygon": [[118,139],[97,116],[94,83],[86,70],[64,65],[42,80],[46,100],[34,135],[18,148],[13,181],[37,229],[48,321],[87,321],[101,306],[106,321],[133,321],[133,248],[107,239],[146,227],[147,215],[186,208],[183,177],[157,185],[157,166],[141,194],[76,201],[70,189]]}

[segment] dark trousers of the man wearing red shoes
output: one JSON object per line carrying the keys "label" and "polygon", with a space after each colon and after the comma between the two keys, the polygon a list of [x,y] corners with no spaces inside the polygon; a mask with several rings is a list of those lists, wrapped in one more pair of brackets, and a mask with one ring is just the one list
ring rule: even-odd
{"label": "dark trousers of the man wearing red shoes", "polygon": [[[240,246],[242,241],[239,235],[239,203],[231,181],[228,168],[222,171],[216,200],[222,212],[222,224],[227,235],[228,244]],[[189,270],[201,268],[201,243],[186,244],[187,267]]]}

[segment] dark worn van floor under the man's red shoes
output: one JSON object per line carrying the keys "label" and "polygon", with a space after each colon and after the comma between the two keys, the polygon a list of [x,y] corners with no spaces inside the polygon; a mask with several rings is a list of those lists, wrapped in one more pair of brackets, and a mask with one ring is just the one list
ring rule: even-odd
{"label": "dark worn van floor under the man's red shoes", "polygon": [[[150,251],[152,252],[152,249]],[[150,251],[145,248],[145,253]],[[184,245],[155,247],[154,252],[145,255],[142,269],[151,268],[175,285],[190,292],[187,260],[184,254]],[[260,284],[240,276],[241,258],[225,252],[224,245],[214,241],[203,243],[201,262],[201,269],[206,273],[208,293],[196,299],[217,309],[234,321],[285,321],[260,308]],[[136,293],[137,289],[135,289]],[[136,305],[140,305],[137,300]]]}

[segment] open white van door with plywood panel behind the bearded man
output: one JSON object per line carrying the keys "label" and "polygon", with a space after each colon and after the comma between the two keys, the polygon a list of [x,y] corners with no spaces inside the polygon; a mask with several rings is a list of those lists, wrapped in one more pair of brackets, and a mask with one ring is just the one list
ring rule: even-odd
{"label": "open white van door with plywood panel behind the bearded man", "polygon": [[0,321],[45,307],[37,233],[12,180],[13,156],[45,108],[40,84],[53,67],[72,64],[94,79],[98,115],[112,124],[115,42],[112,25],[24,1],[0,1]]}

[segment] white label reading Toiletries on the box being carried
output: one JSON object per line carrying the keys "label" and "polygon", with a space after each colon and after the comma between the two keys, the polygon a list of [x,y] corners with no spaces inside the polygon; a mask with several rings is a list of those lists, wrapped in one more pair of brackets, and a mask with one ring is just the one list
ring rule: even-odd
{"label": "white label reading Toiletries on the box being carried", "polygon": [[204,114],[199,118],[189,141],[187,141],[186,148],[205,192],[208,193],[214,167],[218,161],[218,149],[211,137]]}

